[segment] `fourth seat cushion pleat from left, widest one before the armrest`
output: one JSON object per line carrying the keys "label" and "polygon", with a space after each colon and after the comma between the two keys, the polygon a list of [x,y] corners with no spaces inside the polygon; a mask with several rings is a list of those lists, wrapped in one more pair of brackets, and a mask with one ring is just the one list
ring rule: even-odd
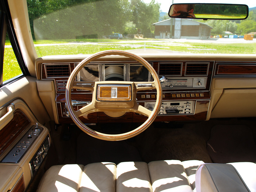
{"label": "fourth seat cushion pleat from left, widest one before the armrest", "polygon": [[148,169],[153,192],[192,192],[181,161],[153,161],[148,164]]}

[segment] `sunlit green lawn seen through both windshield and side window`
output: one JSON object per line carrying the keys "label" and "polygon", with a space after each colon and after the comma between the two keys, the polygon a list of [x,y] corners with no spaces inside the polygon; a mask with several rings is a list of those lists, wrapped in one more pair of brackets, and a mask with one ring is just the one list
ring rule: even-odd
{"label": "sunlit green lawn seen through both windshield and side window", "polygon": [[[154,42],[141,42],[143,40],[154,40]],[[125,42],[127,43],[120,43]],[[35,44],[63,44],[74,43],[75,39],[68,40],[42,40],[36,41]],[[5,45],[10,45],[6,42]],[[256,54],[256,43],[250,44],[216,44],[216,43],[179,43],[179,42],[163,42],[160,39],[99,39],[98,44],[74,44],[74,45],[51,45],[51,46],[35,46],[38,57],[45,55],[70,55],[70,54],[93,54],[104,50],[131,50],[141,48],[164,49],[170,51],[187,52],[187,53],[234,53],[234,54]],[[3,81],[14,76],[20,75],[21,70],[12,48],[4,49],[4,76]]]}

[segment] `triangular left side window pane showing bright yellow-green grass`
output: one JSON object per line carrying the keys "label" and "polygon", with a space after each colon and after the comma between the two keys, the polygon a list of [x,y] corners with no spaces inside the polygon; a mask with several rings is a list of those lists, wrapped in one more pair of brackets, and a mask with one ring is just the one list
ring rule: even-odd
{"label": "triangular left side window pane showing bright yellow-green grass", "polygon": [[8,34],[6,34],[4,45],[3,83],[19,75],[22,75],[22,71],[13,52]]}

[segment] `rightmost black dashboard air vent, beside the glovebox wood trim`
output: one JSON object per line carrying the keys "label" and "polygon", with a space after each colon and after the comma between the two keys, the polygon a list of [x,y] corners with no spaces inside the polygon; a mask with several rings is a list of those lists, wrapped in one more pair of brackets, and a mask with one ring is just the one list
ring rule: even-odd
{"label": "rightmost black dashboard air vent, beside the glovebox wood trim", "polygon": [[186,75],[207,75],[209,63],[187,63]]}

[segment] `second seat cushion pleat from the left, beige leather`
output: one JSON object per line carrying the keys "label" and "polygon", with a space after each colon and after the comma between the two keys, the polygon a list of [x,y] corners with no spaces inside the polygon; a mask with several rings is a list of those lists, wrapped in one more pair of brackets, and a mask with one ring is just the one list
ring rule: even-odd
{"label": "second seat cushion pleat from the left, beige leather", "polygon": [[84,167],[80,192],[115,192],[116,164],[92,163]]}

